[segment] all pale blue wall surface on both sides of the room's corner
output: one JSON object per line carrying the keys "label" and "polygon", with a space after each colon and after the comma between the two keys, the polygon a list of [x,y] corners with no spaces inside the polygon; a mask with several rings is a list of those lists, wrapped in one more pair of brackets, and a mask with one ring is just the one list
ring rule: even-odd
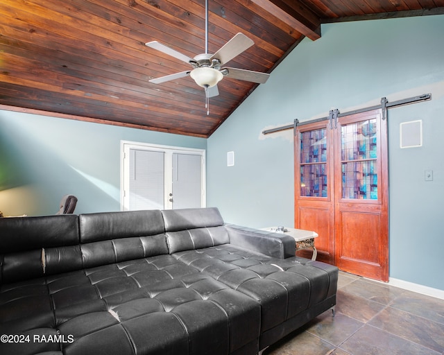
{"label": "all pale blue wall surface on both sides of the room's corner", "polygon": [[[207,140],[0,111],[0,210],[53,214],[74,193],[78,213],[118,211],[128,140],[206,148],[208,206],[231,223],[293,225],[292,131],[262,130],[430,92],[432,101],[388,114],[390,276],[444,290],[444,16],[326,24],[322,33],[303,40]],[[415,119],[424,146],[400,149],[399,124]]]}

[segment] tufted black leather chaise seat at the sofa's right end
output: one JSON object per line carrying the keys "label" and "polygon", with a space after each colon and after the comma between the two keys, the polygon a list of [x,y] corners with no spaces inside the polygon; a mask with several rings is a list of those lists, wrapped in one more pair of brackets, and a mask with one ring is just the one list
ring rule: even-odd
{"label": "tufted black leather chaise seat at the sofa's right end", "polygon": [[275,259],[233,245],[186,250],[173,257],[261,304],[261,331],[336,293],[337,268],[291,257]]}

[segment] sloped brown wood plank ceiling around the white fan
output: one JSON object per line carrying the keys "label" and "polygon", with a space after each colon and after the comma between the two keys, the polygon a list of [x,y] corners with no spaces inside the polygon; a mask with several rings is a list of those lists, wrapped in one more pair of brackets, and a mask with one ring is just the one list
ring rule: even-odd
{"label": "sloped brown wood plank ceiling around the white fan", "polygon": [[[244,33],[255,45],[230,67],[271,73],[322,23],[443,14],[444,0],[210,0],[209,10],[208,51]],[[209,137],[257,87],[223,78],[207,115],[191,78],[148,82],[190,66],[146,42],[205,53],[205,0],[1,0],[0,18],[6,110]]]}

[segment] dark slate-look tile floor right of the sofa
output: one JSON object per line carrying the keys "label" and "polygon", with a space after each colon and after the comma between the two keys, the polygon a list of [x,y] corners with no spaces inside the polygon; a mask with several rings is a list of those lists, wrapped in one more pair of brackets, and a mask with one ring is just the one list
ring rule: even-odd
{"label": "dark slate-look tile floor right of the sofa", "polygon": [[444,300],[339,272],[327,311],[263,355],[444,355]]}

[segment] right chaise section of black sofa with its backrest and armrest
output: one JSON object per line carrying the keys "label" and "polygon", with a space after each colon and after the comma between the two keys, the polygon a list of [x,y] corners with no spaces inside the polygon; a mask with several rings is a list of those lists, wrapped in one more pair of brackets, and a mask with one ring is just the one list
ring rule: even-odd
{"label": "right chaise section of black sofa with its backrest and armrest", "polygon": [[217,209],[162,214],[173,257],[261,304],[259,349],[336,304],[338,269],[295,257],[291,237],[224,225]]}

